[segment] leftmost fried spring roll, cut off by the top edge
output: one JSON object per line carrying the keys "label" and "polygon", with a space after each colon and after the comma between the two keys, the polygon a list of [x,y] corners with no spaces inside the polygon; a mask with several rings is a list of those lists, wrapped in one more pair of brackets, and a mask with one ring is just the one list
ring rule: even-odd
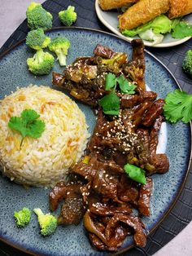
{"label": "leftmost fried spring roll, cut off by the top edge", "polygon": [[138,2],[139,0],[98,0],[99,6],[103,11],[124,7],[129,3]]}

